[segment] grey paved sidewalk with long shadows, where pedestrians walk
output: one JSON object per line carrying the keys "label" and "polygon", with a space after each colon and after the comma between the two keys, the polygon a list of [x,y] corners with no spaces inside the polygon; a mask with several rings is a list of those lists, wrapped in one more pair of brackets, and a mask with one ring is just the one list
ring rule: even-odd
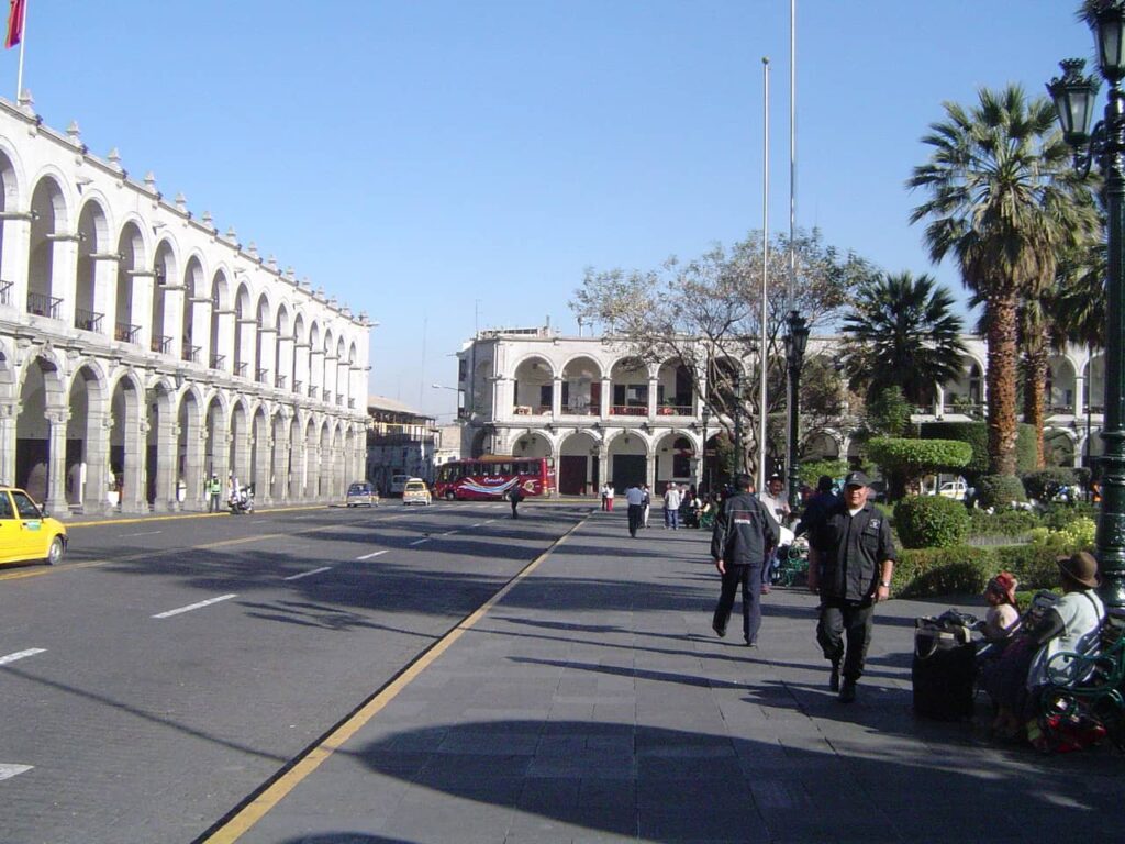
{"label": "grey paved sidewalk with long shadows, where pedestrians walk", "polygon": [[737,616],[726,639],[712,634],[706,541],[658,527],[630,540],[623,512],[594,513],[240,841],[1119,833],[1119,756],[1043,757],[912,716],[912,620],[948,604],[883,604],[860,699],[842,704],[807,592],[766,596],[757,649]]}

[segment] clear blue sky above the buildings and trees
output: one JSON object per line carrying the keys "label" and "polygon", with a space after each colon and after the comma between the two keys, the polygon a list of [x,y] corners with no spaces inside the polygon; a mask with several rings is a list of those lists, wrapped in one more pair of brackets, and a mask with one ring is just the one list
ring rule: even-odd
{"label": "clear blue sky above the buildings and trees", "polygon": [[[798,0],[798,225],[936,271],[903,188],[942,101],[1089,59],[1078,0]],[[45,122],[154,171],[381,324],[371,392],[448,414],[479,327],[576,331],[586,267],[789,228],[789,0],[28,0]],[[12,98],[18,50],[0,56]],[[7,80],[7,81],[4,81]],[[447,420],[448,415],[442,415]]]}

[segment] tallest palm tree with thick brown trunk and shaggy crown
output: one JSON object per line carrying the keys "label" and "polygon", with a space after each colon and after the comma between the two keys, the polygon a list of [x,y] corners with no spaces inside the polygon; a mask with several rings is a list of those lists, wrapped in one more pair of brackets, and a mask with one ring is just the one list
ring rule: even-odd
{"label": "tallest palm tree with thick brown trunk and shaggy crown", "polygon": [[1028,101],[1016,84],[986,88],[972,109],[947,102],[945,113],[922,138],[929,161],[907,181],[929,192],[910,222],[928,221],[930,258],[952,254],[983,303],[989,460],[993,473],[1014,475],[1019,304],[1054,281],[1058,254],[1086,236],[1097,215],[1046,98]]}

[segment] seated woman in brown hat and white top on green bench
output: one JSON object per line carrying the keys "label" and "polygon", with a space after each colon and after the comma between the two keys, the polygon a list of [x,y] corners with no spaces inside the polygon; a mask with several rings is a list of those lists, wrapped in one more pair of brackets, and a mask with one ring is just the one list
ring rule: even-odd
{"label": "seated woman in brown hat and white top on green bench", "polygon": [[[1086,654],[1098,643],[1098,631],[1106,608],[1095,589],[1098,563],[1086,551],[1060,557],[1062,598],[1041,619],[1025,623],[1016,640],[1000,659],[986,671],[984,686],[997,704],[992,729],[1004,738],[1015,738],[1035,715],[1038,691],[1047,682],[1047,662],[1055,654]],[[1065,662],[1065,661],[1062,661]],[[1052,672],[1065,673],[1056,662]]]}

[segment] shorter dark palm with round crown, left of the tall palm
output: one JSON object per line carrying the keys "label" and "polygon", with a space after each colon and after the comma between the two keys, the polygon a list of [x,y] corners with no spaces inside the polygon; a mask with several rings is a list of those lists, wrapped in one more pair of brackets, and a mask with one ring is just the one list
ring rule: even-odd
{"label": "shorter dark palm with round crown, left of the tall palm", "polygon": [[840,327],[850,387],[868,398],[899,387],[911,404],[927,404],[961,372],[961,317],[933,276],[883,273],[862,285]]}

